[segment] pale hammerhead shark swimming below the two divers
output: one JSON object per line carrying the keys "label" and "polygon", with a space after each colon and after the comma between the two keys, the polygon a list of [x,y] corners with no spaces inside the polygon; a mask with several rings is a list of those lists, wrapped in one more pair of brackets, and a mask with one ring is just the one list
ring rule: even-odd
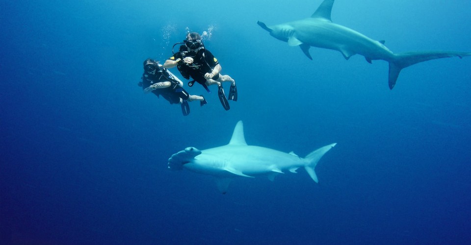
{"label": "pale hammerhead shark swimming below the two divers", "polygon": [[213,175],[216,177],[219,191],[223,194],[226,194],[229,183],[235,177],[265,175],[273,181],[277,174],[286,170],[295,173],[300,167],[304,167],[309,176],[318,183],[314,168],[320,158],[336,144],[320,147],[305,158],[292,151],[285,153],[265,147],[248,146],[242,121],[239,121],[228,145],[206,150],[186,147],[168,159],[168,168]]}

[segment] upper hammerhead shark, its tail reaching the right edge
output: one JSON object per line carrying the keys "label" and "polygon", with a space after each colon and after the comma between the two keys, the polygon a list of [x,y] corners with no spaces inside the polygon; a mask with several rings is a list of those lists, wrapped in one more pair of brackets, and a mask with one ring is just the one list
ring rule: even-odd
{"label": "upper hammerhead shark, its tail reaching the right edge", "polygon": [[280,25],[267,26],[257,22],[270,35],[289,46],[299,46],[310,58],[309,48],[318,47],[323,49],[338,50],[345,59],[352,55],[365,56],[366,61],[385,60],[389,62],[389,88],[396,84],[397,77],[402,69],[419,62],[458,56],[471,55],[471,52],[456,51],[415,51],[405,53],[393,53],[384,46],[385,41],[375,41],[365,35],[343,25],[332,22],[331,12],[334,0],[324,0],[314,14],[307,19],[288,22]]}

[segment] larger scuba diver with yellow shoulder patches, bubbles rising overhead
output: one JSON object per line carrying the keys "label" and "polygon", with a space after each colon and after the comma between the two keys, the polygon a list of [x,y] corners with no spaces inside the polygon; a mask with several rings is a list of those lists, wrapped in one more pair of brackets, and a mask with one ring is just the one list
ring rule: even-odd
{"label": "larger scuba diver with yellow shoulder patches, bubbles rising overhead", "polygon": [[[235,80],[229,75],[221,74],[221,65],[212,53],[205,49],[201,36],[197,32],[190,32],[186,35],[186,40],[180,46],[177,53],[165,61],[163,67],[173,68],[177,67],[178,71],[185,79],[193,78],[194,80],[188,82],[188,86],[193,86],[194,82],[198,82],[210,93],[208,86],[217,84],[217,95],[221,101],[224,109],[229,110],[229,102],[227,101],[222,82],[231,82],[228,98],[237,101],[237,87]],[[175,47],[175,45],[173,47]],[[173,49],[172,49],[173,52]]]}

